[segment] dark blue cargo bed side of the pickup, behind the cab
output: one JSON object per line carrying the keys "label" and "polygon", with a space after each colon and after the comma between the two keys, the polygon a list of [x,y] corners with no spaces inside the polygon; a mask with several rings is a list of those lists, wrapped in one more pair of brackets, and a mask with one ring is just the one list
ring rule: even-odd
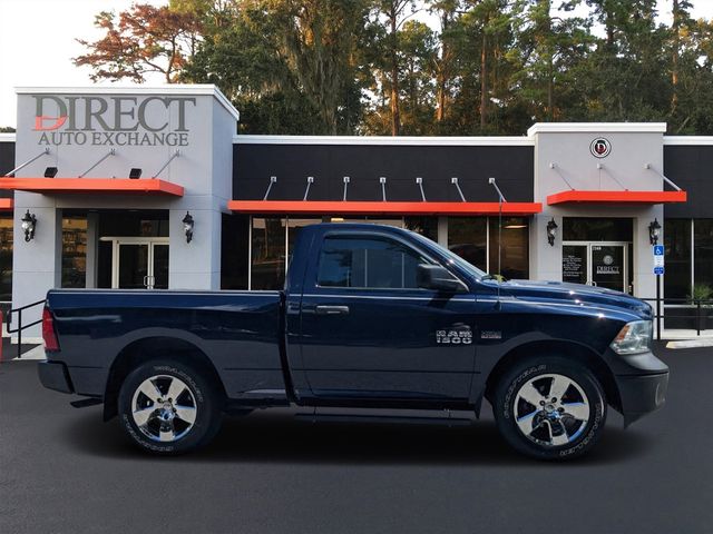
{"label": "dark blue cargo bed side of the pickup, behind the cab", "polygon": [[75,393],[91,396],[102,395],[117,354],[131,350],[135,340],[155,337],[199,349],[217,369],[229,398],[284,398],[281,301],[280,291],[48,294],[61,339],[57,359],[67,363]]}

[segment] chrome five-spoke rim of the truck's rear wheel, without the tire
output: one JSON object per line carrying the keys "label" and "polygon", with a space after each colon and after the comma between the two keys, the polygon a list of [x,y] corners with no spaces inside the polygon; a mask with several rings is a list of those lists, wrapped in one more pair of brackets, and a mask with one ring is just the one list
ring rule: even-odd
{"label": "chrome five-spoke rim of the truck's rear wheel, without the tire", "polygon": [[195,424],[196,412],[191,388],[170,375],[145,379],[131,399],[134,423],[155,442],[175,442],[188,434]]}

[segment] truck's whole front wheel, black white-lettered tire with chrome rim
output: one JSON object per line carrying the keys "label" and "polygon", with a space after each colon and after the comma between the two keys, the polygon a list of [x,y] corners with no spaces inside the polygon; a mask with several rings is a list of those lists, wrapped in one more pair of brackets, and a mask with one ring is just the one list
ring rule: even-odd
{"label": "truck's whole front wheel, black white-lettered tire with chrome rim", "polygon": [[[556,398],[560,390],[564,394]],[[492,412],[505,441],[534,458],[582,456],[604,431],[604,389],[584,365],[569,359],[518,362],[498,382],[494,400]]]}

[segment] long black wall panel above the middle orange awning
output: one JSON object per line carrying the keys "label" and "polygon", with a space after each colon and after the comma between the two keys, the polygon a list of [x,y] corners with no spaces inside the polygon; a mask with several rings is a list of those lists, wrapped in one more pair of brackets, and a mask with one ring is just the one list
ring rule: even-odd
{"label": "long black wall panel above the middle orange awning", "polygon": [[534,147],[441,147],[383,145],[234,145],[233,198],[262,200],[276,176],[270,200],[302,200],[314,176],[310,200],[381,200],[379,177],[387,177],[387,200],[419,201],[416,177],[427,200],[459,201],[450,178],[459,178],[468,201],[497,201],[494,176],[509,201],[533,201]]}

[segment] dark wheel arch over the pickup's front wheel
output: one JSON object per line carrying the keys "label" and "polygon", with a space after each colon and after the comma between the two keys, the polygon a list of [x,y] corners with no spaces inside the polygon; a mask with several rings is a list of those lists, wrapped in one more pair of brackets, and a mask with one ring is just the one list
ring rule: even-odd
{"label": "dark wheel arch over the pickup's front wheel", "polygon": [[597,353],[583,345],[555,339],[525,343],[506,353],[490,369],[490,373],[486,378],[485,397],[489,402],[492,402],[492,395],[500,378],[512,365],[515,365],[516,362],[526,357],[531,357],[533,354],[561,356],[567,359],[579,362],[584,367],[590,370],[599,384],[602,384],[608,404],[614,406],[615,409],[621,411],[622,402],[616,379],[614,377],[614,373],[604,359]]}

